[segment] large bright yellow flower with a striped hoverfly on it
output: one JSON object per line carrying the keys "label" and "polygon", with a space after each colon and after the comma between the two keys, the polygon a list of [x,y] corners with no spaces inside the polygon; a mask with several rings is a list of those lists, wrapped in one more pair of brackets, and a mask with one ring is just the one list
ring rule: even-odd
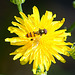
{"label": "large bright yellow flower with a striped hoverfly on it", "polygon": [[68,51],[71,51],[71,48],[67,45],[72,45],[70,42],[65,42],[71,33],[67,33],[66,29],[58,30],[65,18],[61,21],[53,21],[56,14],[46,11],[40,20],[36,6],[33,7],[33,14],[28,17],[23,12],[20,12],[20,15],[22,18],[14,16],[18,23],[12,22],[12,24],[16,27],[8,27],[10,33],[16,33],[18,36],[5,39],[11,45],[22,46],[10,53],[15,55],[13,60],[20,58],[22,65],[28,61],[31,64],[33,61],[34,74],[38,66],[41,72],[48,71],[51,63],[56,63],[54,57],[65,63],[65,59],[60,54],[69,56]]}

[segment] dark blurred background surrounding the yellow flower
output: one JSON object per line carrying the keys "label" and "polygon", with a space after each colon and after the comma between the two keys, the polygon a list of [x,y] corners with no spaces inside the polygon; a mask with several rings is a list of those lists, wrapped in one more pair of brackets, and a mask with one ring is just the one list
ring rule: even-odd
{"label": "dark blurred background surrounding the yellow flower", "polygon": [[[69,28],[75,22],[75,9],[72,6],[72,0],[26,0],[23,4],[24,13],[26,15],[31,14],[34,5],[39,8],[41,16],[46,10],[49,10],[57,14],[55,20],[66,18],[62,28]],[[6,37],[16,36],[10,34],[7,30],[8,26],[11,25],[11,21],[15,21],[13,17],[15,15],[20,16],[17,6],[10,3],[9,0],[0,0],[0,75],[32,75],[32,65],[22,66],[19,60],[13,61],[13,56],[9,56],[9,53],[17,47],[4,42]],[[72,36],[68,38],[68,41],[75,41],[75,30],[72,31]],[[75,75],[75,60],[71,57],[63,57],[67,62],[63,64],[56,59],[57,63],[51,65],[48,75]]]}

